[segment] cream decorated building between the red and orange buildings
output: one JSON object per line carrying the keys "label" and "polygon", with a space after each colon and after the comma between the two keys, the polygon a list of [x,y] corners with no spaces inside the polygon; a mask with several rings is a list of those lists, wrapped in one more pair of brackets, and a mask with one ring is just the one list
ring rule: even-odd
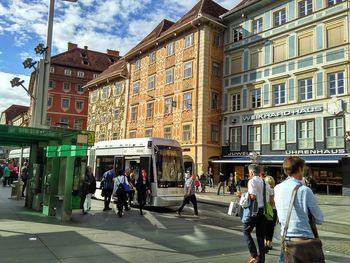
{"label": "cream decorated building between the red and orange buildings", "polygon": [[128,95],[126,62],[120,59],[84,88],[89,90],[88,126],[95,141],[125,139]]}

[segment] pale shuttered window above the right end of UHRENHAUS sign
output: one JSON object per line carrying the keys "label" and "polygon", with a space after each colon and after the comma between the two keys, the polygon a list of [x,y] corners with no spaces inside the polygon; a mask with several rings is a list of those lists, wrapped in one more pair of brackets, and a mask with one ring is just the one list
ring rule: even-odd
{"label": "pale shuttered window above the right end of UHRENHAUS sign", "polygon": [[344,120],[342,117],[326,119],[326,148],[344,147]]}

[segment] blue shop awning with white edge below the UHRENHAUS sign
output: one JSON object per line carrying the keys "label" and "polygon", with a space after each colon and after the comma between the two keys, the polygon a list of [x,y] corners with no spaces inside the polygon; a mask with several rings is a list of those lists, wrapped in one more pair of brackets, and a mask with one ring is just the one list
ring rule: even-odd
{"label": "blue shop awning with white edge below the UHRENHAUS sign", "polygon": [[[261,164],[282,164],[284,159],[292,155],[259,155],[255,158]],[[314,155],[298,155],[304,159],[306,163],[339,163],[339,161],[346,157],[345,154],[314,154]],[[226,155],[219,160],[214,160],[213,163],[252,163],[252,158],[249,155],[232,156]]]}

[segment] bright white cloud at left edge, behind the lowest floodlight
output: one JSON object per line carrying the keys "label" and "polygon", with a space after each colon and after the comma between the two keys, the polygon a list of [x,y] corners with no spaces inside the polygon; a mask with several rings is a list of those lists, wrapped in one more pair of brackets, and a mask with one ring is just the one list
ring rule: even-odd
{"label": "bright white cloud at left edge, behind the lowest floodlight", "polygon": [[10,81],[18,77],[24,80],[23,86],[28,88],[29,77],[24,75],[13,75],[11,73],[0,72],[0,112],[3,112],[12,104],[29,106],[29,96],[25,90],[19,87],[11,87]]}

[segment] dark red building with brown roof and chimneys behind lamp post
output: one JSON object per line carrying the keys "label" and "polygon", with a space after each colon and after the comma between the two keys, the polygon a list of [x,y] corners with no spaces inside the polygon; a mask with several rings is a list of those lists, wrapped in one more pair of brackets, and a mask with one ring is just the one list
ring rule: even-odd
{"label": "dark red building with brown roof and chimneys behind lamp post", "polygon": [[87,128],[88,97],[83,86],[119,59],[119,52],[107,53],[78,48],[68,43],[66,52],[51,58],[47,124],[85,130]]}

